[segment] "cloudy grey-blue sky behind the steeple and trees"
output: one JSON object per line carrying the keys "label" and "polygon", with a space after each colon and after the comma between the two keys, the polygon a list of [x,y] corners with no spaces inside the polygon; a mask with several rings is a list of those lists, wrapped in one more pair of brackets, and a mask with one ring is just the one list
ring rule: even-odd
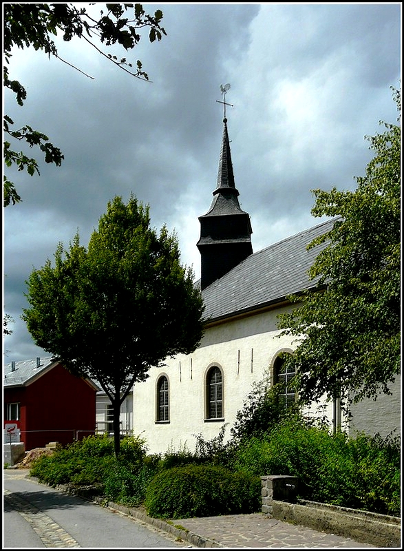
{"label": "cloudy grey-blue sky behind the steeple and trees", "polygon": [[12,56],[10,78],[28,96],[19,107],[6,93],[5,112],[15,127],[47,134],[65,160],[41,162],[41,176],[8,171],[23,202],[4,209],[3,306],[14,318],[4,363],[49,355],[20,319],[25,281],[76,231],[87,245],[116,195],[148,203],[153,227],[176,231],[183,264],[200,277],[198,216],[216,186],[221,84],[231,84],[235,184],[254,251],[321,222],[311,190],[354,189],[372,157],[365,136],[396,123],[401,3],[143,6],[162,10],[167,31],[152,44],[144,33],[125,54],[142,61],[149,83],[78,39],[58,40],[59,55],[94,79],[32,48]]}

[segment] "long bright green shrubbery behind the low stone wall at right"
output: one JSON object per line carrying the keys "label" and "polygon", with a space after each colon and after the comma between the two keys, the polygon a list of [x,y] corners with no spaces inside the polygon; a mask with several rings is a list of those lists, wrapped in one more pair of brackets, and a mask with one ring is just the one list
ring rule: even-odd
{"label": "long bright green shrubbery behind the low stone wall at right", "polygon": [[400,515],[399,439],[331,435],[299,416],[284,418],[265,437],[240,442],[234,467],[252,475],[293,475],[298,497]]}

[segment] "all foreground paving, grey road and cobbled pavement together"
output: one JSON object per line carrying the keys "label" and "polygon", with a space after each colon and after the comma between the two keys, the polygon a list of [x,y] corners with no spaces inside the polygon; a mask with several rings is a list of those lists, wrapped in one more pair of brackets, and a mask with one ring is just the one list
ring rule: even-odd
{"label": "all foreground paving, grey road and cobbled pavement together", "polygon": [[[27,478],[3,476],[3,549],[81,548],[372,548],[346,537],[278,521],[263,513],[164,521],[142,510],[94,502]],[[115,513],[115,514],[114,514]]]}

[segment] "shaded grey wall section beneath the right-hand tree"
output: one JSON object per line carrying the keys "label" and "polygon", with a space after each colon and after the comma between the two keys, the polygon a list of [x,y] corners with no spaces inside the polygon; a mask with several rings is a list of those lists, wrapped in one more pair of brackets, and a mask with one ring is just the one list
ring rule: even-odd
{"label": "shaded grey wall section beneath the right-hand tree", "polygon": [[392,395],[380,394],[376,400],[364,399],[351,407],[352,421],[349,434],[358,432],[370,436],[379,433],[385,438],[394,430],[394,436],[401,435],[401,375],[389,385]]}

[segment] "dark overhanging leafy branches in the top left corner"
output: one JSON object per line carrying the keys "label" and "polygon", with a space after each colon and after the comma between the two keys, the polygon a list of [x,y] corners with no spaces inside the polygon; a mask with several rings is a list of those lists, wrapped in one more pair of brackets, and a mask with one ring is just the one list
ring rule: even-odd
{"label": "dark overhanging leafy branches in the top left corner", "polygon": [[[70,65],[61,59],[52,40],[52,37],[57,36],[58,32],[63,34],[64,41],[70,41],[73,37],[83,39],[125,72],[138,79],[149,80],[149,76],[142,70],[142,63],[139,60],[136,61],[136,69],[132,69],[132,64],[128,63],[125,57],[118,59],[115,55],[106,54],[98,48],[94,39],[97,37],[97,41],[105,46],[119,44],[126,51],[133,50],[140,41],[140,29],[147,27],[149,28],[149,41],[160,41],[162,35],[166,34],[164,28],[160,26],[161,10],[156,10],[151,16],[143,10],[141,4],[112,3],[105,4],[105,6],[107,12],[104,13],[103,10],[100,10],[99,19],[94,19],[91,14],[87,13],[86,8],[74,6],[74,4],[3,4],[5,62],[3,63],[3,82],[6,88],[14,92],[19,105],[23,105],[27,92],[19,81],[11,80],[9,77],[8,65],[12,57],[12,48],[23,49],[32,46],[35,50],[43,50],[47,56],[55,56],[63,63]],[[132,19],[126,17],[128,8],[134,8]],[[70,66],[73,67],[73,65]],[[77,67],[74,68],[77,69]],[[61,150],[50,143],[49,138],[43,132],[34,130],[30,125],[13,129],[14,121],[7,114],[4,115],[3,123],[4,132],[10,138],[22,141],[30,147],[38,146],[44,154],[46,163],[61,165],[64,158]],[[10,141],[4,142],[4,160],[7,167],[16,165],[18,170],[26,169],[30,176],[35,173],[39,174],[36,159],[30,158],[22,151],[17,152],[12,149]],[[21,201],[21,197],[17,193],[14,183],[5,175],[3,180],[4,206],[7,207],[10,203],[15,205],[19,201]]]}

